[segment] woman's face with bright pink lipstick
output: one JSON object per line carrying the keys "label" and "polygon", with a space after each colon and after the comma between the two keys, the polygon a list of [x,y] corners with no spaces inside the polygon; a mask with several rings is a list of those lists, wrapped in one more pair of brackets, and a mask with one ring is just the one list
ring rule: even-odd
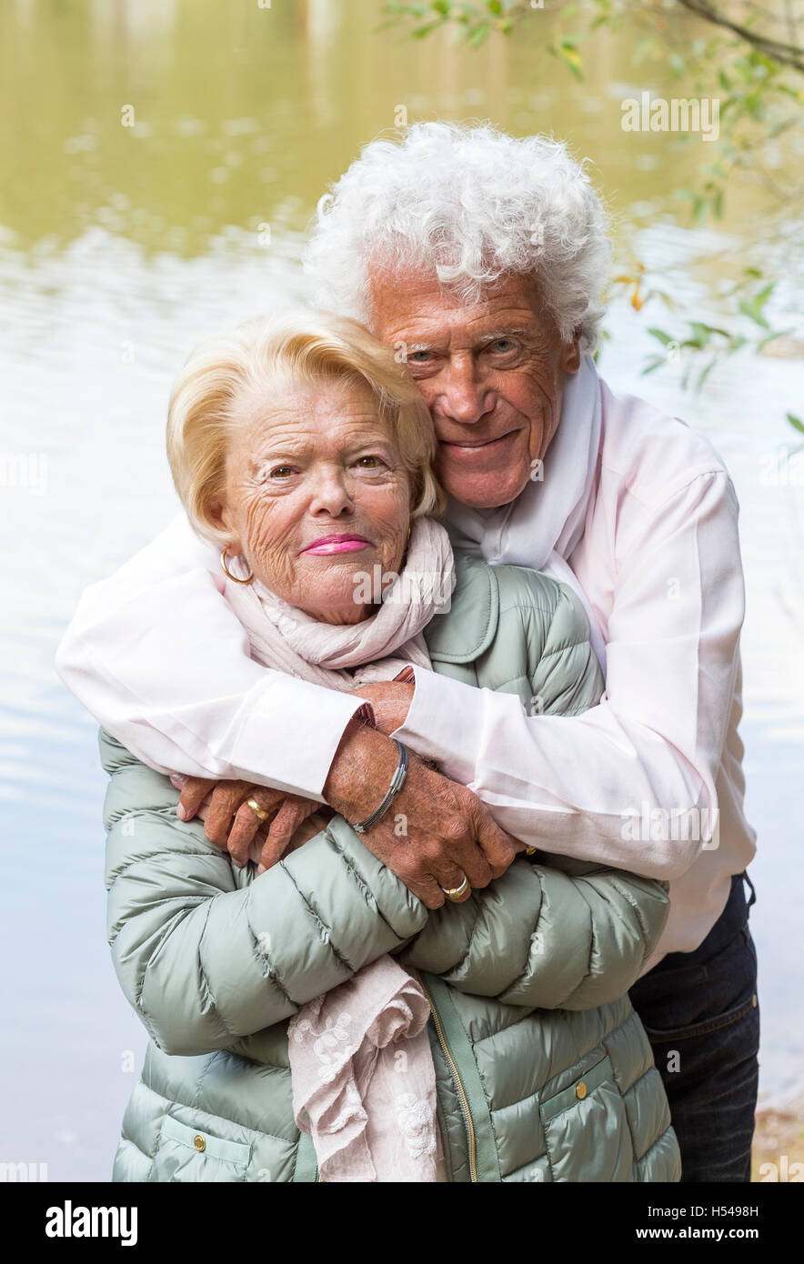
{"label": "woman's face with bright pink lipstick", "polygon": [[[325,623],[359,623],[373,568],[399,570],[410,479],[364,383],[264,388],[235,401],[221,526],[257,579]],[[363,584],[363,592],[365,592]]]}

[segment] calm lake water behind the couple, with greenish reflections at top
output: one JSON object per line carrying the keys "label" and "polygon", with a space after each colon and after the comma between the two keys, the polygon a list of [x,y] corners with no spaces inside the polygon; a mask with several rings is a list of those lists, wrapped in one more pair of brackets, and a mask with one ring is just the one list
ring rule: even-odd
{"label": "calm lake water behind the couple, with greenish reflections at top", "polygon": [[[4,465],[0,487],[0,1160],[48,1163],[51,1179],[107,1178],[145,1043],[105,942],[95,724],[52,660],[81,589],[174,512],[163,425],[185,355],[303,295],[300,235],[317,197],[399,104],[411,119],[489,116],[569,138],[598,163],[621,244],[690,311],[709,310],[716,265],[700,257],[738,253],[762,211],[743,198],[718,235],[674,219],[669,195],[700,154],[619,130],[627,49],[602,43],[594,76],[574,85],[532,39],[477,57],[377,35],[375,21],[373,3],[331,0],[0,11],[0,453],[16,470]],[[789,278],[777,322],[794,326],[794,310]],[[691,398],[675,367],[638,375],[651,322],[627,302],[612,308],[603,375],[705,430],[742,504],[762,1088],[784,1097],[804,1083],[804,479],[784,463],[784,412],[801,411],[804,370],[734,360]]]}

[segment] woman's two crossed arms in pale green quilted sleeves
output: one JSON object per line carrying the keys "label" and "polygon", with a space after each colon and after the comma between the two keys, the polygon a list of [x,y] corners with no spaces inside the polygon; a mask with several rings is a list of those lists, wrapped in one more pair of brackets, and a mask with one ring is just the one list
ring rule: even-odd
{"label": "woman's two crossed arms in pale green quilted sleeves", "polygon": [[250,1036],[405,948],[460,991],[526,1010],[621,996],[655,948],[664,889],[597,867],[517,860],[461,905],[430,913],[335,817],[259,877],[238,872],[176,791],[101,734],[107,927],[120,986],[169,1054],[253,1052]]}

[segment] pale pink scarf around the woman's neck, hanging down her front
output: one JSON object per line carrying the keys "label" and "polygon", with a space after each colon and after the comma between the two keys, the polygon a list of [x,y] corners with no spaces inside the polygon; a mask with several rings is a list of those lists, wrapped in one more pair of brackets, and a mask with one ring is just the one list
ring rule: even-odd
{"label": "pale pink scarf around the woman's neck, hanging down her front", "polygon": [[[422,629],[449,609],[454,586],[446,531],[417,518],[401,574],[362,623],[320,623],[258,580],[226,581],[225,595],[253,659],[348,690],[391,680],[407,664],[430,667]],[[420,983],[386,956],[291,1019],[293,1115],[312,1136],[321,1181],[445,1179],[429,1018]]]}

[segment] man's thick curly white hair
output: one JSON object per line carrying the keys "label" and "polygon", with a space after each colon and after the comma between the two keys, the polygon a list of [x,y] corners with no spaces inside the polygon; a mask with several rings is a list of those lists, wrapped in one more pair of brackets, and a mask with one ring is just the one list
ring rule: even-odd
{"label": "man's thick curly white hair", "polygon": [[600,197],[568,147],[490,124],[415,123],[365,145],[319,202],[305,272],[320,306],[370,325],[369,265],[435,273],[461,302],[532,276],[563,341],[598,344],[611,243]]}

